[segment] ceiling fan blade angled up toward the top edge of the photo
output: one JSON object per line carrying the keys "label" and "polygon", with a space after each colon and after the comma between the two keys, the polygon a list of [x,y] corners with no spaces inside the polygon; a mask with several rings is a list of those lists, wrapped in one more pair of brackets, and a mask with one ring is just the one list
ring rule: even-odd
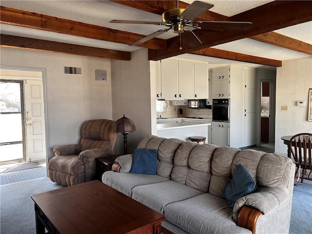
{"label": "ceiling fan blade angled up toward the top edge of the photo", "polygon": [[204,12],[212,8],[214,4],[204,1],[193,1],[177,18],[183,20],[194,20]]}

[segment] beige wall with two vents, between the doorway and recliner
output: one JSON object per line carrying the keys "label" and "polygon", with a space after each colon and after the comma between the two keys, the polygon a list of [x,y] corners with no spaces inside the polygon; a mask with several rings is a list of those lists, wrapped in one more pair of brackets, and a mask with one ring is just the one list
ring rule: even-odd
{"label": "beige wall with two vents, between the doorway and recliner", "polygon": [[[112,119],[110,59],[1,47],[0,64],[46,69],[49,142],[53,147],[78,143],[85,120]],[[64,66],[82,68],[82,76],[64,75]],[[107,70],[107,81],[96,81],[95,70]]]}

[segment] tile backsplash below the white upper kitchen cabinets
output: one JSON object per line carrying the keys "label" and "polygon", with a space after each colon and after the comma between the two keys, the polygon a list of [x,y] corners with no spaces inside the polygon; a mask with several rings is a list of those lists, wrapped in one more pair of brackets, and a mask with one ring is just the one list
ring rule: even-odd
{"label": "tile backsplash below the white upper kitchen cabinets", "polygon": [[211,109],[192,109],[187,106],[172,106],[169,101],[167,102],[167,109],[165,112],[157,113],[157,117],[172,118],[178,117],[179,108],[183,109],[183,117],[202,117],[202,118],[212,118]]}

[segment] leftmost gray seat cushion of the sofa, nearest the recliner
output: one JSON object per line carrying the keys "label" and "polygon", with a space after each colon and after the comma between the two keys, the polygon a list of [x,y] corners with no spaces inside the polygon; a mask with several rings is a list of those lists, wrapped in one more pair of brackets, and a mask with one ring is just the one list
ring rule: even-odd
{"label": "leftmost gray seat cushion of the sofa, nearest the recliner", "polygon": [[105,172],[102,176],[102,182],[104,184],[130,197],[132,195],[132,189],[138,185],[153,184],[166,180],[169,179],[157,175],[117,173],[113,171]]}

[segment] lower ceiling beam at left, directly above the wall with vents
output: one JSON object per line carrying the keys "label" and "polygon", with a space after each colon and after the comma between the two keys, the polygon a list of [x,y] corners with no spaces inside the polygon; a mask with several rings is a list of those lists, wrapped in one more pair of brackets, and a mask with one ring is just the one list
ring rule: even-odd
{"label": "lower ceiling beam at left, directly above the wall with vents", "polygon": [[106,59],[119,59],[127,61],[131,60],[130,52],[108,50],[83,45],[74,45],[49,40],[23,38],[5,34],[0,34],[0,46]]}

